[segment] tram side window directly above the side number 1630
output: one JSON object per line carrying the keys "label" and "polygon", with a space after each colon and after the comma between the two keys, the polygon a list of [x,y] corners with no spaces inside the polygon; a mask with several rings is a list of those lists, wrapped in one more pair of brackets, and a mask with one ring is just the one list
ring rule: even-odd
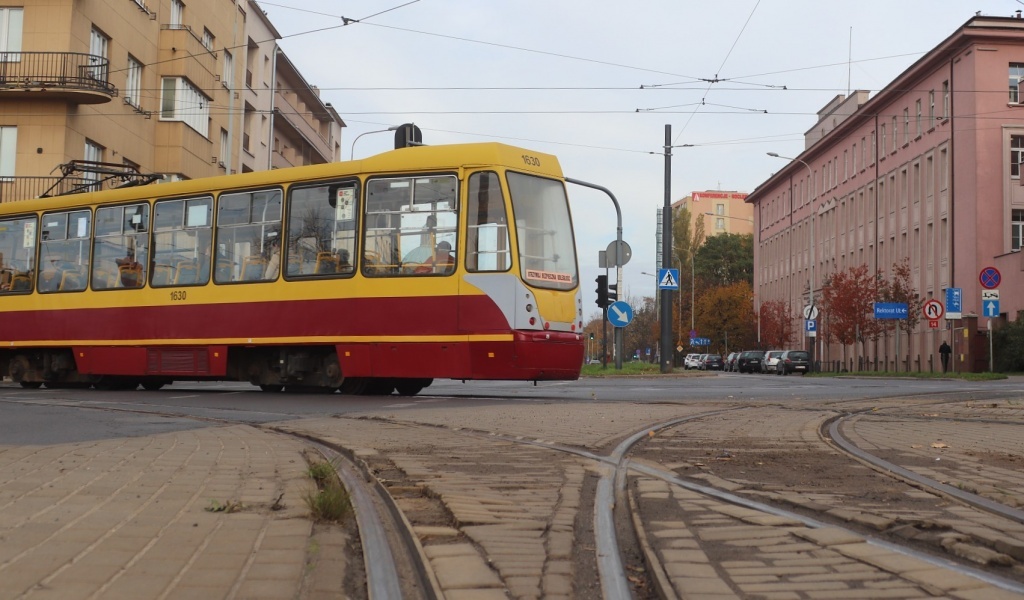
{"label": "tram side window directly above the side number 1630", "polygon": [[165,200],[154,206],[154,288],[210,282],[213,198]]}

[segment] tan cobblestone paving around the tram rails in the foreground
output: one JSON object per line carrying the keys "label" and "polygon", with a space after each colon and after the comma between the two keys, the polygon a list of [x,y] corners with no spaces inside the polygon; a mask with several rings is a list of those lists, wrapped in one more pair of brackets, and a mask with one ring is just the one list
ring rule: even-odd
{"label": "tan cobblestone paving around the tram rails in the foreground", "polygon": [[[835,413],[812,406],[411,404],[278,427],[322,437],[364,460],[414,525],[445,597],[456,600],[600,597],[590,495],[604,467],[525,442],[600,455],[654,423],[719,411],[651,431],[638,460],[828,510],[841,500],[825,489],[752,486],[757,473],[712,472],[680,449],[705,444],[699,456],[710,464],[722,449],[716,440],[746,440],[726,449],[746,455],[744,447],[786,446],[804,453],[808,464],[815,457],[850,462],[817,434]],[[922,439],[949,435],[929,430],[929,423],[921,424]],[[858,421],[856,432],[858,443],[894,435],[868,420]],[[1012,433],[990,435],[984,447],[998,448],[1004,435]],[[979,436],[972,452],[985,442]],[[343,530],[308,519],[302,497],[312,484],[303,449],[295,438],[247,426],[0,446],[0,599],[338,597],[345,593],[346,561],[360,558]],[[636,556],[627,558],[639,597],[653,596],[647,586],[659,577],[666,594],[678,598],[1021,597],[869,544],[861,533],[810,528],[648,476],[631,477],[629,489],[647,547],[663,565],[652,572]],[[909,503],[913,494],[923,492],[900,500]]]}

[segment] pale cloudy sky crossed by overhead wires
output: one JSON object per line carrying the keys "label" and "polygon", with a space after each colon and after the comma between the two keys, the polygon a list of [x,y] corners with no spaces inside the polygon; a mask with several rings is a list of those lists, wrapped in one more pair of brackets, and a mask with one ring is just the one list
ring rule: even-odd
{"label": "pale cloudy sky crossed by overhead wires", "polygon": [[[345,121],[342,158],[500,141],[558,157],[623,211],[632,298],[655,292],[657,209],[706,189],[753,191],[796,157],[839,94],[873,95],[975,13],[1024,0],[274,0],[281,47]],[[354,146],[353,146],[353,142]],[[598,314],[608,198],[570,185],[585,317]],[[612,280],[614,275],[612,274]]]}

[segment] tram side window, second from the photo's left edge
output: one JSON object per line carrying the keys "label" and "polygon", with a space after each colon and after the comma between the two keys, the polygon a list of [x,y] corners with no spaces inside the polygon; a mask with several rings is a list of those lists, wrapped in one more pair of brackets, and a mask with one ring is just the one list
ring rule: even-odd
{"label": "tram side window, second from the photo's left edge", "polygon": [[80,292],[89,278],[92,214],[46,213],[39,242],[40,292]]}

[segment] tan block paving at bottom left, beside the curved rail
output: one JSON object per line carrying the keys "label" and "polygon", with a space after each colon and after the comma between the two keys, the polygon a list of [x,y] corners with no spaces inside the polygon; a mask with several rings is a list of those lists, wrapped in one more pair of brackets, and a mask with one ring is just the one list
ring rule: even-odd
{"label": "tan block paving at bottom left, beside the curved rail", "polygon": [[301,447],[246,426],[0,446],[0,599],[338,597]]}

